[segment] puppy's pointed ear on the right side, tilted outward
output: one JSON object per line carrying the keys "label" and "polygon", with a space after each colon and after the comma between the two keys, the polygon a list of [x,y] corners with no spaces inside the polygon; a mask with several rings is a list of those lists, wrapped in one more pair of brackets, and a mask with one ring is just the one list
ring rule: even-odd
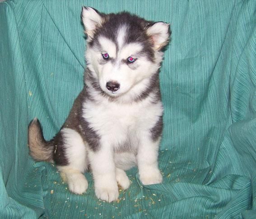
{"label": "puppy's pointed ear on the right side, tilted outward", "polygon": [[170,24],[165,22],[155,22],[146,27],[150,40],[154,44],[154,49],[161,50],[168,45],[171,31]]}

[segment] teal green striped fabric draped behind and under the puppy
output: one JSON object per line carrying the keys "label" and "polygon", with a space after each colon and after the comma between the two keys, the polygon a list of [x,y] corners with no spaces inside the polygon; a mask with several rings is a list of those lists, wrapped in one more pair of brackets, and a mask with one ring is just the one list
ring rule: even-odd
{"label": "teal green striped fabric draped behind and under the puppy", "polygon": [[[28,155],[37,116],[56,134],[83,87],[81,6],[171,23],[161,68],[163,183],[114,203],[71,194]],[[256,218],[255,0],[13,0],[0,3],[0,218]]]}

